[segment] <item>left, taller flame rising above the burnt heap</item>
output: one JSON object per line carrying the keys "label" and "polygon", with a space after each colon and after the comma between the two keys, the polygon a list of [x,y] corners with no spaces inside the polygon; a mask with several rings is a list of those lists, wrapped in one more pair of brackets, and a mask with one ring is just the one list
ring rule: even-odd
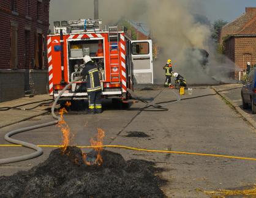
{"label": "left, taller flame rising above the burnt heap", "polygon": [[64,153],[67,150],[67,147],[69,146],[70,142],[70,128],[69,125],[67,125],[67,122],[64,120],[63,115],[67,113],[67,110],[65,108],[62,108],[59,111],[59,115],[61,117],[61,120],[58,123],[58,127],[61,128],[62,132],[62,152]]}

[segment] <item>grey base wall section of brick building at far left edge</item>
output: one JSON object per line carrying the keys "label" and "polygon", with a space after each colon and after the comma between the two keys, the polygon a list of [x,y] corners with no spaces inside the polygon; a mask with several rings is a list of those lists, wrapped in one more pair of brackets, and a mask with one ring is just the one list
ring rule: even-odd
{"label": "grey base wall section of brick building at far left edge", "polygon": [[0,102],[24,97],[24,70],[0,70]]}

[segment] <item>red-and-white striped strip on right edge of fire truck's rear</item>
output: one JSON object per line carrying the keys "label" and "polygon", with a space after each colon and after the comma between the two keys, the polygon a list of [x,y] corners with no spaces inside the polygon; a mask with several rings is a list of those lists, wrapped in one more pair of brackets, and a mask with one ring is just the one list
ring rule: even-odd
{"label": "red-and-white striped strip on right edge of fire truck's rear", "polygon": [[122,81],[122,92],[127,92],[126,84],[126,42],[124,40],[124,34],[120,34],[120,47],[121,47],[121,81]]}

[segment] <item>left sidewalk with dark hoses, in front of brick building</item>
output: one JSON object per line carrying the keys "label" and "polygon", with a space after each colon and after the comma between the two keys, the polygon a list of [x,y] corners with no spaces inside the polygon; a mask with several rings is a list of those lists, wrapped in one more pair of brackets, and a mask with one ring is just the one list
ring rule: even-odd
{"label": "left sidewalk with dark hoses, in front of brick building", "polygon": [[[45,100],[50,100],[52,97],[50,97],[48,94],[45,95],[36,95],[33,98],[29,97],[24,97],[24,98],[19,98],[17,100],[11,100],[11,101],[5,101],[0,103],[0,108],[2,107],[14,107],[18,105],[23,105],[26,103],[32,103],[32,102],[39,102],[39,103],[34,103],[31,105],[26,105],[26,106],[21,106],[20,108],[33,108],[40,103],[43,102],[48,102]],[[23,122],[25,120],[32,119],[33,117],[41,116],[45,113],[48,112],[49,106],[39,106],[35,109],[32,110],[17,110],[17,109],[10,109],[8,111],[0,111],[0,128],[7,127],[10,125],[13,125],[18,122]]]}

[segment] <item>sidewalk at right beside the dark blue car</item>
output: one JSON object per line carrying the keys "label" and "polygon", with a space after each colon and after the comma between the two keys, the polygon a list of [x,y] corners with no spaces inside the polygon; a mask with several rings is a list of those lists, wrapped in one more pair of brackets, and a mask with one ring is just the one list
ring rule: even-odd
{"label": "sidewalk at right beside the dark blue car", "polygon": [[223,92],[219,92],[219,94],[231,103],[236,111],[238,111],[239,114],[247,120],[247,122],[256,128],[256,115],[252,114],[251,109],[243,109],[242,107],[241,87],[243,87],[242,84],[224,84],[220,86],[213,86],[213,89],[216,92],[225,90]]}

